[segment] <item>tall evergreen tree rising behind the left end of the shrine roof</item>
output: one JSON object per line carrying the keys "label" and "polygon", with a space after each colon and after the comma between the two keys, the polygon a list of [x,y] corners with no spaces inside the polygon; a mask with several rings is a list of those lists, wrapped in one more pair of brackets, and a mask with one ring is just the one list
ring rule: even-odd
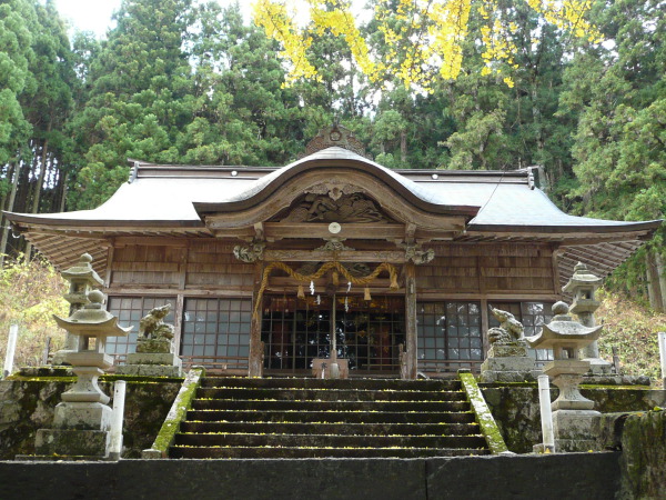
{"label": "tall evergreen tree rising behind the left end of the shrine roof", "polygon": [[192,119],[193,79],[184,50],[190,0],[124,0],[90,64],[90,93],[73,123],[82,164],[72,208],[105,200],[127,179],[127,158],[178,162]]}

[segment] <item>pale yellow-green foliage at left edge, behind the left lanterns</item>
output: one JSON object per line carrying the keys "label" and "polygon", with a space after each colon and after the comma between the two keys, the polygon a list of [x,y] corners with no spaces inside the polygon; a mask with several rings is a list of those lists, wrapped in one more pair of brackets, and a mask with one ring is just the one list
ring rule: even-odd
{"label": "pale yellow-green foliage at left edge, behind the left lanterns", "polygon": [[69,303],[62,298],[67,283],[49,263],[19,258],[0,270],[0,359],[4,359],[10,324],[19,324],[14,367],[38,366],[47,337],[51,351],[64,341],[64,332],[52,314],[68,316]]}

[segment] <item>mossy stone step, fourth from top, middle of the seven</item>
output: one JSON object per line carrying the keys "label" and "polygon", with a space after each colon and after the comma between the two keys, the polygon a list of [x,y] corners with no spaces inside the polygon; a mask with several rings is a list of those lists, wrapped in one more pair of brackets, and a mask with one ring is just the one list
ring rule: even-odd
{"label": "mossy stone step, fourth from top, middle of the seven", "polygon": [[208,422],[331,422],[331,423],[471,423],[472,411],[293,411],[189,410],[189,421]]}

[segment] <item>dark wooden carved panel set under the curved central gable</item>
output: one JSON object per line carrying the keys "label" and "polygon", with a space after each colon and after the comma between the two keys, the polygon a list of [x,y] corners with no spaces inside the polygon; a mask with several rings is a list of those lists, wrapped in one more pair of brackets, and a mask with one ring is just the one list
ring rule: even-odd
{"label": "dark wooden carved panel set under the curved central gable", "polygon": [[389,219],[362,193],[341,194],[337,199],[309,193],[282,222],[389,222]]}

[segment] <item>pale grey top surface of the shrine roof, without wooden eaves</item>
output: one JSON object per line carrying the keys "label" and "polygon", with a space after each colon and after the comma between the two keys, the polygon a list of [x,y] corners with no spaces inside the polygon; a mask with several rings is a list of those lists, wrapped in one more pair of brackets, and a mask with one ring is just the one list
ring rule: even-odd
{"label": "pale grey top surface of the shrine roof, without wooden eaves", "polygon": [[[569,216],[561,211],[541,190],[531,189],[527,174],[516,176],[496,172],[498,182],[482,178],[478,171],[455,172],[455,181],[451,181],[451,172],[432,171],[438,174],[435,181],[432,174],[410,174],[412,179],[382,167],[364,157],[342,148],[327,148],[305,157],[286,167],[271,170],[244,170],[233,168],[211,170],[206,176],[196,174],[196,167],[160,167],[149,166],[152,173],[127,182],[103,204],[94,210],[82,210],[54,214],[11,214],[10,219],[37,223],[81,222],[82,224],[103,223],[105,221],[135,221],[150,223],[180,222],[201,224],[192,203],[234,203],[248,200],[290,170],[312,161],[355,160],[376,169],[377,174],[389,177],[398,182],[418,199],[441,206],[471,206],[481,210],[470,221],[468,230],[492,230],[512,226],[515,228],[615,228],[636,226],[636,222],[609,221]],[[162,170],[163,169],[163,172]],[[158,172],[158,173],[154,173]],[[483,182],[482,182],[483,180]],[[380,200],[381,201],[381,200]]]}

